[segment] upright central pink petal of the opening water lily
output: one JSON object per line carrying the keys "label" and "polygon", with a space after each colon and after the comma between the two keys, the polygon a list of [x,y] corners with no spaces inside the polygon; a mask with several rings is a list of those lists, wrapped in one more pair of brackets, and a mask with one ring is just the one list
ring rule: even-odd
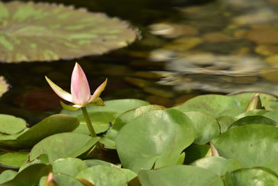
{"label": "upright central pink petal of the opening water lily", "polygon": [[85,106],[90,100],[90,86],[88,80],[79,63],[75,63],[72,71],[72,102]]}

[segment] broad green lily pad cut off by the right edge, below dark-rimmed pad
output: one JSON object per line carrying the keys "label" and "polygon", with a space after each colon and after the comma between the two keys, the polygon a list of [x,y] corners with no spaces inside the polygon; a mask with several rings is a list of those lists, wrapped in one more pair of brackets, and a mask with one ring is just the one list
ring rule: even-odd
{"label": "broad green lily pad cut off by the right edge, below dark-rimmed pad", "polygon": [[[212,139],[220,156],[238,160],[243,168],[264,166],[277,157],[278,128],[271,125],[234,127]],[[268,152],[268,155],[265,155]]]}

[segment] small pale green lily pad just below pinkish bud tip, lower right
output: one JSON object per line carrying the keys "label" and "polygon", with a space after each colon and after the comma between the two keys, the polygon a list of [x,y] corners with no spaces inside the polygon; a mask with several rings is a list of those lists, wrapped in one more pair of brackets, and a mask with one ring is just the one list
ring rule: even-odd
{"label": "small pale green lily pad just below pinkish bud tip, lower right", "polygon": [[224,176],[228,171],[235,171],[241,168],[240,162],[235,159],[225,159],[224,157],[204,157],[196,160],[191,165],[199,166],[203,169],[213,171],[218,176]]}

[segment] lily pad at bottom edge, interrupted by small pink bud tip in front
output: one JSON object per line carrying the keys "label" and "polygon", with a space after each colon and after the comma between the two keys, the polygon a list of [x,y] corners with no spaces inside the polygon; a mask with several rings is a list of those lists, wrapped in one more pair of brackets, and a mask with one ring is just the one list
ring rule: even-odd
{"label": "lily pad at bottom edge, interrupted by small pink bud tip in front", "polygon": [[[54,180],[55,182],[60,185],[69,185],[69,186],[84,186],[79,180],[76,180],[76,178],[61,174],[61,173],[54,173]],[[40,186],[45,186],[45,183],[47,182],[47,176],[43,176],[40,178]]]}

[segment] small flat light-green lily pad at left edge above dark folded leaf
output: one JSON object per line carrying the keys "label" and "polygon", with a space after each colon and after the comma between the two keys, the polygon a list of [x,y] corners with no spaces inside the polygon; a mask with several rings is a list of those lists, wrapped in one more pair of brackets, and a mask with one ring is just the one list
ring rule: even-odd
{"label": "small flat light-green lily pad at left edge above dark folded leaf", "polygon": [[22,118],[0,114],[0,132],[4,134],[17,134],[26,128],[26,121]]}

